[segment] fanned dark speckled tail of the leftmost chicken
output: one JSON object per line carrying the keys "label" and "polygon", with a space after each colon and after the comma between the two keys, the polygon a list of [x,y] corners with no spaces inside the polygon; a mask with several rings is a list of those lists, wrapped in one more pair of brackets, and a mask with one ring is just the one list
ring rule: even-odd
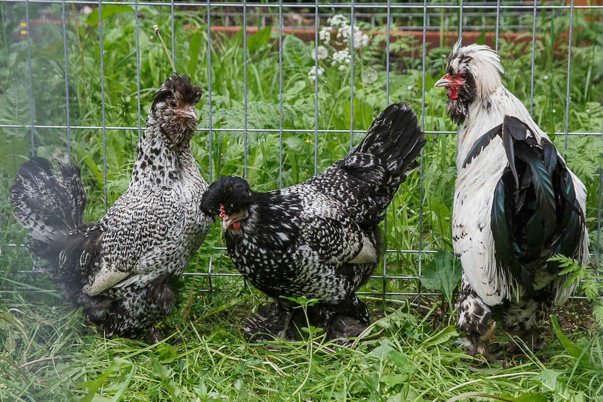
{"label": "fanned dark speckled tail of the leftmost chicken", "polygon": [[30,230],[29,247],[40,259],[60,253],[55,249],[65,247],[69,232],[81,227],[86,206],[80,168],[57,165],[33,157],[19,167],[10,188],[14,217]]}

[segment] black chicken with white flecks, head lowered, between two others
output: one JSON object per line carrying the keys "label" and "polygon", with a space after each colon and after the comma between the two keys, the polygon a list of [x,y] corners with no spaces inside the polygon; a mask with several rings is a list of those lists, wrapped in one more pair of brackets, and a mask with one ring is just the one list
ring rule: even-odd
{"label": "black chicken with white flecks, head lowered, between two others", "polygon": [[344,159],[304,183],[264,193],[241,177],[210,184],[201,209],[223,219],[238,271],[274,298],[246,321],[245,336],[283,338],[289,325],[305,322],[301,309],[294,317],[297,304],[282,297],[320,299],[309,315],[312,325],[326,320],[328,339],[357,336],[370,324],[355,292],[377,265],[379,223],[425,142],[414,111],[400,102],[377,117]]}

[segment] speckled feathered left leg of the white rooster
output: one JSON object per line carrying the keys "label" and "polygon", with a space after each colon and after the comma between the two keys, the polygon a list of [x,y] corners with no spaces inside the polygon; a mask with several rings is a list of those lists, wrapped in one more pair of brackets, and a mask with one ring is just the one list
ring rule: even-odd
{"label": "speckled feathered left leg of the white rooster", "polygon": [[490,306],[473,290],[463,272],[461,294],[458,304],[458,326],[467,332],[468,338],[459,339],[459,344],[467,347],[469,354],[481,354],[489,361],[495,360],[490,354],[490,338],[494,334],[495,325],[488,327],[492,312]]}

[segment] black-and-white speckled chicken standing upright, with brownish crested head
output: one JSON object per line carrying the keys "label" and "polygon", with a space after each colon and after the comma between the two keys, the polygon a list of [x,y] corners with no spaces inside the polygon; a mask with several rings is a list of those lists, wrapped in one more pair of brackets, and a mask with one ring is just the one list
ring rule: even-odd
{"label": "black-and-white speckled chicken standing upright, with brownish crested head", "polygon": [[184,75],[163,81],[128,189],[96,223],[82,222],[86,195],[75,165],[34,157],[10,189],[40,271],[106,336],[146,332],[150,343],[163,339],[154,324],[174,305],[169,281],[209,230],[211,217],[199,207],[207,183],[190,146],[200,97],[201,88]]}

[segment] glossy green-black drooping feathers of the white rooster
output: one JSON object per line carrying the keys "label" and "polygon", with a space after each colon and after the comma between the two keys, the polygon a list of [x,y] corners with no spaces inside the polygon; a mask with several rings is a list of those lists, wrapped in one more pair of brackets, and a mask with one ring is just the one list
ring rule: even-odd
{"label": "glossy green-black drooping feathers of the white rooster", "polygon": [[584,212],[573,181],[548,139],[535,139],[529,127],[505,116],[502,139],[509,165],[494,190],[491,229],[496,259],[503,269],[534,292],[539,270],[554,274],[555,254],[575,257],[584,230]]}

